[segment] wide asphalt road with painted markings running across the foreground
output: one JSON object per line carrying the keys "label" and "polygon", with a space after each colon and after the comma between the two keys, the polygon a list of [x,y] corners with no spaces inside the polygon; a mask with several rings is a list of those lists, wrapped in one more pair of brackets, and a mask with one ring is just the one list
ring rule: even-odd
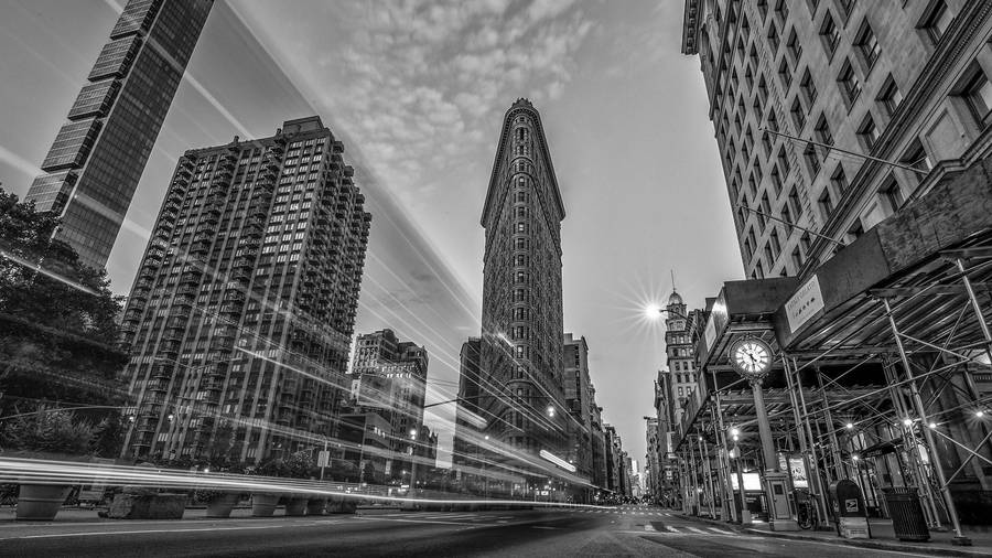
{"label": "wide asphalt road with painted markings running across the foreground", "polygon": [[[0,556],[896,556],[743,535],[656,507],[0,523]],[[906,555],[898,555],[906,556]]]}

